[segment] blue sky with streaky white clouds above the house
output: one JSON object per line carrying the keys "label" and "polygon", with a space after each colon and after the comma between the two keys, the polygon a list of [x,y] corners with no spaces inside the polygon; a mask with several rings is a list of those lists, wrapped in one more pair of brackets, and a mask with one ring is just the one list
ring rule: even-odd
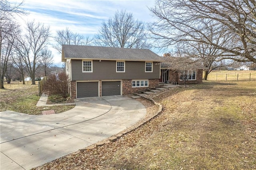
{"label": "blue sky with streaky white clouds above the house", "polygon": [[[9,0],[19,3],[22,0]],[[154,0],[24,0],[23,8],[30,14],[22,16],[18,22],[35,20],[50,26],[54,36],[57,30],[68,27],[72,32],[93,37],[104,20],[114,16],[117,10],[132,12],[135,19],[152,22],[148,7],[154,6]],[[53,41],[53,40],[51,40]],[[50,48],[54,62],[61,63],[61,55]]]}

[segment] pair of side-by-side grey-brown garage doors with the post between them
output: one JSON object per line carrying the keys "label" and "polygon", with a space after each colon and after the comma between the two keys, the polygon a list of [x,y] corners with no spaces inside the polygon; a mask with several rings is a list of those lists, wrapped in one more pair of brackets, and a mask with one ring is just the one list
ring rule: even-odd
{"label": "pair of side-by-side grey-brown garage doors with the post between them", "polygon": [[[101,86],[100,86],[101,83]],[[100,94],[100,88],[102,94]],[[77,98],[121,95],[121,81],[77,82]]]}

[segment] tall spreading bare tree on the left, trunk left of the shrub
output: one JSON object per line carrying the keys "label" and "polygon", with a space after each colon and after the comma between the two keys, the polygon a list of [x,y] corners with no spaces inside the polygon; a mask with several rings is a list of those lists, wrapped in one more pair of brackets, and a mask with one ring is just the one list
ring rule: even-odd
{"label": "tall spreading bare tree on the left, trunk left of the shrub", "polygon": [[50,27],[42,23],[28,22],[24,36],[19,36],[16,50],[22,56],[30,75],[32,85],[36,84],[35,72],[40,65],[40,51],[46,47],[50,37]]}

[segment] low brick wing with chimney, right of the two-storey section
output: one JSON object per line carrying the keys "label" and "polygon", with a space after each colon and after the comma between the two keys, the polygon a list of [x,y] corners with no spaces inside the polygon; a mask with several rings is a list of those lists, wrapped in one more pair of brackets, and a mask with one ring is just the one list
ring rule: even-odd
{"label": "low brick wing with chimney, right of the two-storey section", "polygon": [[187,84],[202,83],[203,69],[201,64],[193,62],[185,57],[170,57],[169,53],[164,54],[165,61],[161,63],[160,83],[182,84],[186,77]]}

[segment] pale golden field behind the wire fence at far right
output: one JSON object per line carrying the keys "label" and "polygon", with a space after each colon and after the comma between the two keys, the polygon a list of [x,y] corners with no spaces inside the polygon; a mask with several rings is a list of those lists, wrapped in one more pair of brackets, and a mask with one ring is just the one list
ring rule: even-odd
{"label": "pale golden field behind the wire fence at far right", "polygon": [[211,81],[256,81],[255,70],[212,71],[208,75]]}

